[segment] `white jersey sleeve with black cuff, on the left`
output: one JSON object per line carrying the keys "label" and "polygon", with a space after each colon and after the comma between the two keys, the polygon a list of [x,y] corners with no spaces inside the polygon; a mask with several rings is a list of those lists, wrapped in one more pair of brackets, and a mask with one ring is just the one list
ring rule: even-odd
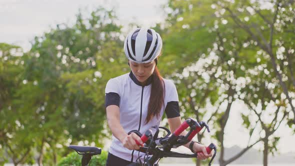
{"label": "white jersey sleeve with black cuff, on the left", "polygon": [[105,102],[104,106],[120,104],[119,86],[115,79],[109,79],[105,86]]}

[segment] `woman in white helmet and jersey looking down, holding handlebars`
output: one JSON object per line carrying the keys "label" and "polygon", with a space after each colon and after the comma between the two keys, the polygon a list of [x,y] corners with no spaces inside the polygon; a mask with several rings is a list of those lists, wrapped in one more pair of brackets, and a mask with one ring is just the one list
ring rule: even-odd
{"label": "woman in white helmet and jersey looking down, holding handlebars", "polygon": [[[124,51],[131,71],[108,80],[105,87],[105,107],[108,126],[112,132],[112,143],[106,165],[127,165],[138,157],[142,144],[135,133],[141,133],[151,126],[159,125],[165,112],[171,132],[181,124],[178,95],[171,80],[160,76],[156,67],[162,47],[162,39],[150,28],[136,28],[124,41]],[[188,142],[192,151],[202,151],[199,159],[211,156],[204,145]],[[139,154],[139,155],[142,155]],[[142,155],[143,156],[143,155]]]}

